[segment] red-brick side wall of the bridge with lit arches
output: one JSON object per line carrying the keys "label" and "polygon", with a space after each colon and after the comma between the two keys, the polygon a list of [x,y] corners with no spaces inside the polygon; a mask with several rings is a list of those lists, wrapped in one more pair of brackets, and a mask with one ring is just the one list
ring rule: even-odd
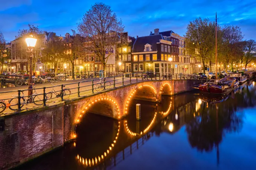
{"label": "red-brick side wall of the bridge with lit arches", "polygon": [[0,169],[14,167],[74,138],[79,118],[87,111],[121,119],[132,98],[158,102],[163,94],[190,91],[191,86],[200,83],[200,80],[146,81],[2,116],[5,130],[0,131]]}

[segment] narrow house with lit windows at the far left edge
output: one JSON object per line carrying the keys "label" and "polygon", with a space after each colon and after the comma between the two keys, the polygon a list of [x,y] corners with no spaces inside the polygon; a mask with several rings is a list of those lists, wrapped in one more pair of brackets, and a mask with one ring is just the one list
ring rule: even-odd
{"label": "narrow house with lit windows at the far left edge", "polygon": [[5,44],[5,48],[0,50],[1,63],[0,71],[11,71],[11,43]]}

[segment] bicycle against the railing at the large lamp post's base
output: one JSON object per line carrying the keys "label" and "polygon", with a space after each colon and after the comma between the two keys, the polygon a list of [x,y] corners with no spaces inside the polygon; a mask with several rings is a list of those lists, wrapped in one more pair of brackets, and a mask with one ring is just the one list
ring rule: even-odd
{"label": "bicycle against the railing at the large lamp post's base", "polygon": [[[20,96],[20,108],[22,108],[25,104],[29,104],[31,103],[30,101],[32,100],[32,102],[35,105],[42,105],[43,104],[43,94],[42,93],[37,93],[35,90],[35,84],[33,83],[33,94],[31,96],[28,96],[28,98],[25,98],[25,95],[23,93],[23,91],[21,91],[22,95]],[[12,95],[14,98],[9,100],[9,109],[17,111],[18,110],[18,96],[16,95]],[[46,96],[47,99],[47,96]]]}

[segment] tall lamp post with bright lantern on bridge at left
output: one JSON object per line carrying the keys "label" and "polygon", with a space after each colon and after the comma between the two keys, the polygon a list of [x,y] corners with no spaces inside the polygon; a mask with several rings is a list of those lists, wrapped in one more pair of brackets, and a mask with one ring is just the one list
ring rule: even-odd
{"label": "tall lamp post with bright lantern on bridge at left", "polygon": [[[28,38],[26,38],[26,44],[28,46],[27,52],[30,53],[30,62],[29,62],[29,86],[28,86],[28,96],[31,96],[33,94],[32,90],[32,57],[33,57],[33,49],[35,47],[35,44],[37,43],[37,39],[33,35],[29,35]],[[32,98],[31,98],[32,99]]]}

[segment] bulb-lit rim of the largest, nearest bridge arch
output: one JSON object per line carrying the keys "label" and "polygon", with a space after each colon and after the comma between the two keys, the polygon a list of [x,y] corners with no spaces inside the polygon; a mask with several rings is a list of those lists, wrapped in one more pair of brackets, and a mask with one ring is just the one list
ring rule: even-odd
{"label": "bulb-lit rim of the largest, nearest bridge arch", "polygon": [[118,117],[118,119],[120,119],[120,107],[118,105],[117,100],[115,100],[113,97],[107,96],[107,95],[95,96],[95,98],[90,98],[88,101],[86,101],[86,103],[83,104],[83,106],[81,106],[81,109],[78,110],[77,114],[75,114],[75,117],[74,117],[74,120],[72,123],[71,138],[77,137],[75,130],[76,130],[78,123],[80,123],[81,118],[86,115],[86,113],[89,111],[90,108],[92,108],[95,104],[102,102],[102,101],[108,102],[110,105],[112,105],[114,107],[114,110],[112,110],[112,111],[116,111],[117,117]]}

